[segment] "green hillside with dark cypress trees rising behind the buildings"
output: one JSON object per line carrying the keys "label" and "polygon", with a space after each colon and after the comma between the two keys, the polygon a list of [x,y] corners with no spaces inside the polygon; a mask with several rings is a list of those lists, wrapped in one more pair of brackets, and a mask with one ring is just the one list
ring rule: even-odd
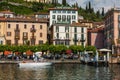
{"label": "green hillside with dark cypress trees rising behind the buildings", "polygon": [[[68,5],[63,4],[63,5]],[[37,2],[26,2],[24,0],[5,0],[3,2],[0,2],[0,10],[11,10],[12,12],[15,12],[16,14],[21,15],[31,15],[36,12],[48,12],[48,9],[55,6],[63,6],[59,3],[37,3]],[[100,11],[95,12],[94,9],[91,7],[91,3],[89,5],[86,5],[86,9],[81,8],[78,6],[78,4],[74,4],[71,7],[78,7],[79,15],[83,16],[84,19],[89,21],[102,21],[104,17],[104,9],[102,13]]]}

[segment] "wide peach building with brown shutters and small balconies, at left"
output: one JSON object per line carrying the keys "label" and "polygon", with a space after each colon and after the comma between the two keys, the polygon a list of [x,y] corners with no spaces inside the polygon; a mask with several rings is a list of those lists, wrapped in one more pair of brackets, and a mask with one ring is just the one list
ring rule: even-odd
{"label": "wide peach building with brown shutters and small balconies, at left", "polygon": [[4,38],[2,43],[8,45],[46,43],[47,24],[46,19],[0,18],[0,40]]}

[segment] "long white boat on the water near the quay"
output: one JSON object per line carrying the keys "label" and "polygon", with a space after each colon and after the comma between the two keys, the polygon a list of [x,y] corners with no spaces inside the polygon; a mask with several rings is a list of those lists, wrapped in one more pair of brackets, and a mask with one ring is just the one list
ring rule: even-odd
{"label": "long white boat on the water near the quay", "polygon": [[20,62],[18,63],[19,67],[41,67],[41,66],[50,66],[52,62]]}

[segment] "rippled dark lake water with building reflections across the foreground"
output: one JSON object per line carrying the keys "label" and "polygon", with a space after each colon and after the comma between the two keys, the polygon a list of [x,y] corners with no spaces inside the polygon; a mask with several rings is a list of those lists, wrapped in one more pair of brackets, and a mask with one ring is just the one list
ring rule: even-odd
{"label": "rippled dark lake water with building reflections across the foreground", "polygon": [[120,64],[109,67],[54,64],[34,68],[0,64],[0,80],[120,80]]}

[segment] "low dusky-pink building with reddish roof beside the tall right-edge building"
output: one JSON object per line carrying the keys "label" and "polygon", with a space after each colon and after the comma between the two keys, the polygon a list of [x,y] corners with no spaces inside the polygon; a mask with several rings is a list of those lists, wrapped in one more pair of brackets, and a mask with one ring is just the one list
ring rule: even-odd
{"label": "low dusky-pink building with reddish roof beside the tall right-edge building", "polygon": [[104,48],[104,27],[88,29],[88,45]]}

